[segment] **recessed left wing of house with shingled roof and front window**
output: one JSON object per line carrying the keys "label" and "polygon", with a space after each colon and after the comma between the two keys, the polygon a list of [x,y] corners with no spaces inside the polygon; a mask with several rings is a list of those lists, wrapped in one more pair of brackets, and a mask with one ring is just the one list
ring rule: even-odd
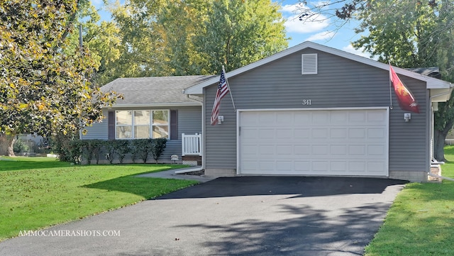
{"label": "recessed left wing of house with shingled roof and front window", "polygon": [[[198,96],[188,96],[182,90],[214,76],[118,78],[101,87],[101,91],[116,91],[124,99],[111,108],[104,108],[106,119],[86,128],[82,139],[131,140],[135,138],[167,138],[167,147],[160,162],[173,162],[178,155],[201,155],[199,140],[189,145],[184,154],[182,134],[201,133],[202,103]],[[192,138],[189,138],[192,139]],[[101,158],[104,158],[101,157]],[[102,159],[101,159],[102,160]],[[106,162],[104,159],[103,162]],[[154,162],[150,157],[149,162]]]}

